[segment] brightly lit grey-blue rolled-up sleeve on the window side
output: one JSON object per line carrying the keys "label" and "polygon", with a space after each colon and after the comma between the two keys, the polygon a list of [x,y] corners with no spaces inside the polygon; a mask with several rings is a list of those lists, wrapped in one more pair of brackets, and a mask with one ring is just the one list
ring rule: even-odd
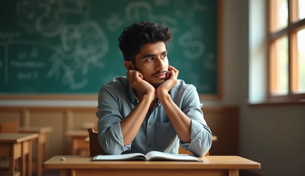
{"label": "brightly lit grey-blue rolled-up sleeve on the window side", "polygon": [[201,111],[200,103],[196,87],[193,86],[182,101],[182,111],[191,119],[191,143],[181,143],[183,150],[189,150],[196,157],[203,157],[211,148],[212,132],[206,125]]}

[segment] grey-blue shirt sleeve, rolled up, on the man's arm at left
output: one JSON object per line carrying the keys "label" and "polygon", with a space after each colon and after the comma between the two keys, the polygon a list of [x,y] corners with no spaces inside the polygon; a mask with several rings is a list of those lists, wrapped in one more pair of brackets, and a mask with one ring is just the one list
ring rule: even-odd
{"label": "grey-blue shirt sleeve, rolled up, on the man's arm at left", "polygon": [[124,146],[121,133],[120,121],[123,120],[120,114],[117,95],[110,87],[102,86],[98,95],[98,111],[95,113],[98,118],[99,143],[108,155],[120,155],[130,150],[131,144]]}

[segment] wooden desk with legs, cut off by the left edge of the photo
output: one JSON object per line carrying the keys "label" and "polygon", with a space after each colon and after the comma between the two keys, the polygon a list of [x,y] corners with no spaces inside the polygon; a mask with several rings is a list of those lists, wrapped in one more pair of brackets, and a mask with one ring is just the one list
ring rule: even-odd
{"label": "wooden desk with legs, cut off by the left edge of the photo", "polygon": [[[9,157],[9,176],[25,175],[25,155],[28,154],[28,175],[32,175],[32,141],[38,134],[2,133],[0,134],[0,157]],[[20,172],[15,172],[15,160],[20,158]],[[4,173],[0,173],[4,175]]]}

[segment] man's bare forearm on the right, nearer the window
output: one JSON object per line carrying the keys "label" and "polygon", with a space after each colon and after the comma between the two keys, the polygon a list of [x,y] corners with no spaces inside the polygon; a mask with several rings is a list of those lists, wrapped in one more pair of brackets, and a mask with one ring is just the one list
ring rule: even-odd
{"label": "man's bare forearm on the right, nearer the window", "polygon": [[[158,96],[159,97],[159,96]],[[186,116],[181,109],[171,100],[168,93],[163,94],[159,98],[160,103],[164,107],[174,129],[182,143],[191,142],[191,119]]]}

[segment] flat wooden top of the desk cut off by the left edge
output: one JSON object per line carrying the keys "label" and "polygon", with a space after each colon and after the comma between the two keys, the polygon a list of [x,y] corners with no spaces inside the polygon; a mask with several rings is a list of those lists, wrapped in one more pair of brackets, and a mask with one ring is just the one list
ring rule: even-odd
{"label": "flat wooden top of the desk cut off by the left edge", "polygon": [[1,133],[0,143],[21,143],[38,138],[38,133]]}

